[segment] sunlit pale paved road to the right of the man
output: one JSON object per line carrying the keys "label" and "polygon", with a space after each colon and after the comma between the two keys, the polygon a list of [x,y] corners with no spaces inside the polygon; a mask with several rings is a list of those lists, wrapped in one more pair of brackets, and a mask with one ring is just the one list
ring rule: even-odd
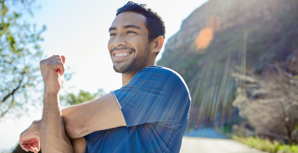
{"label": "sunlit pale paved road to the right of the man", "polygon": [[182,139],[180,153],[266,153],[235,140],[187,137]]}

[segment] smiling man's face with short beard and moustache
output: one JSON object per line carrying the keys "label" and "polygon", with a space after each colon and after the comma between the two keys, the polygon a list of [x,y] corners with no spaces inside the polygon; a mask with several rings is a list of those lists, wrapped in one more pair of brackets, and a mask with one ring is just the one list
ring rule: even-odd
{"label": "smiling man's face with short beard and moustache", "polygon": [[145,16],[136,12],[122,12],[114,19],[108,50],[116,72],[127,73],[147,65],[150,43],[145,21]]}

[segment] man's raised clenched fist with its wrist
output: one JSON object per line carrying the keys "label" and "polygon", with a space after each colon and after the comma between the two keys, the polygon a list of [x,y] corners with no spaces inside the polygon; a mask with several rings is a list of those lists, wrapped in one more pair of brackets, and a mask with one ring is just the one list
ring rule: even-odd
{"label": "man's raised clenched fist with its wrist", "polygon": [[63,85],[65,57],[53,55],[39,63],[41,75],[44,79],[45,93],[59,93]]}

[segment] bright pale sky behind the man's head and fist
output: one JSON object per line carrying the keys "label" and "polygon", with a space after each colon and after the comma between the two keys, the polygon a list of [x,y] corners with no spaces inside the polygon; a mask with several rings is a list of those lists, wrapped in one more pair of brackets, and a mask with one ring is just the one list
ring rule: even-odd
{"label": "bright pale sky behind the man's head and fist", "polygon": [[[147,4],[157,12],[166,26],[166,39],[179,31],[182,21],[208,0],[135,0]],[[47,26],[41,43],[44,54],[64,55],[66,67],[75,72],[64,83],[64,90],[78,93],[80,89],[91,93],[103,88],[106,93],[121,87],[121,74],[114,72],[108,53],[108,28],[116,15],[116,9],[128,0],[37,0],[41,9],[27,22],[37,27]],[[162,48],[163,52],[164,48]],[[159,54],[158,59],[162,54]],[[39,61],[38,61],[39,62]],[[41,103],[41,102],[37,102]],[[41,118],[41,106],[32,107],[27,116],[16,119],[7,115],[0,122],[0,152],[18,144],[19,135],[35,119]]]}

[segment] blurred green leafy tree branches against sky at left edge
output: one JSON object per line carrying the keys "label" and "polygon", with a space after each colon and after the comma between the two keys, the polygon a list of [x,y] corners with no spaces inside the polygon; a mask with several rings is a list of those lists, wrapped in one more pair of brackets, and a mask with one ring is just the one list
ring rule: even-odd
{"label": "blurred green leafy tree branches against sky at left edge", "polygon": [[[38,44],[43,41],[36,25],[20,23],[24,13],[32,14],[34,0],[0,0],[0,119],[12,108],[21,108],[42,81]],[[35,95],[36,96],[36,95]]]}

